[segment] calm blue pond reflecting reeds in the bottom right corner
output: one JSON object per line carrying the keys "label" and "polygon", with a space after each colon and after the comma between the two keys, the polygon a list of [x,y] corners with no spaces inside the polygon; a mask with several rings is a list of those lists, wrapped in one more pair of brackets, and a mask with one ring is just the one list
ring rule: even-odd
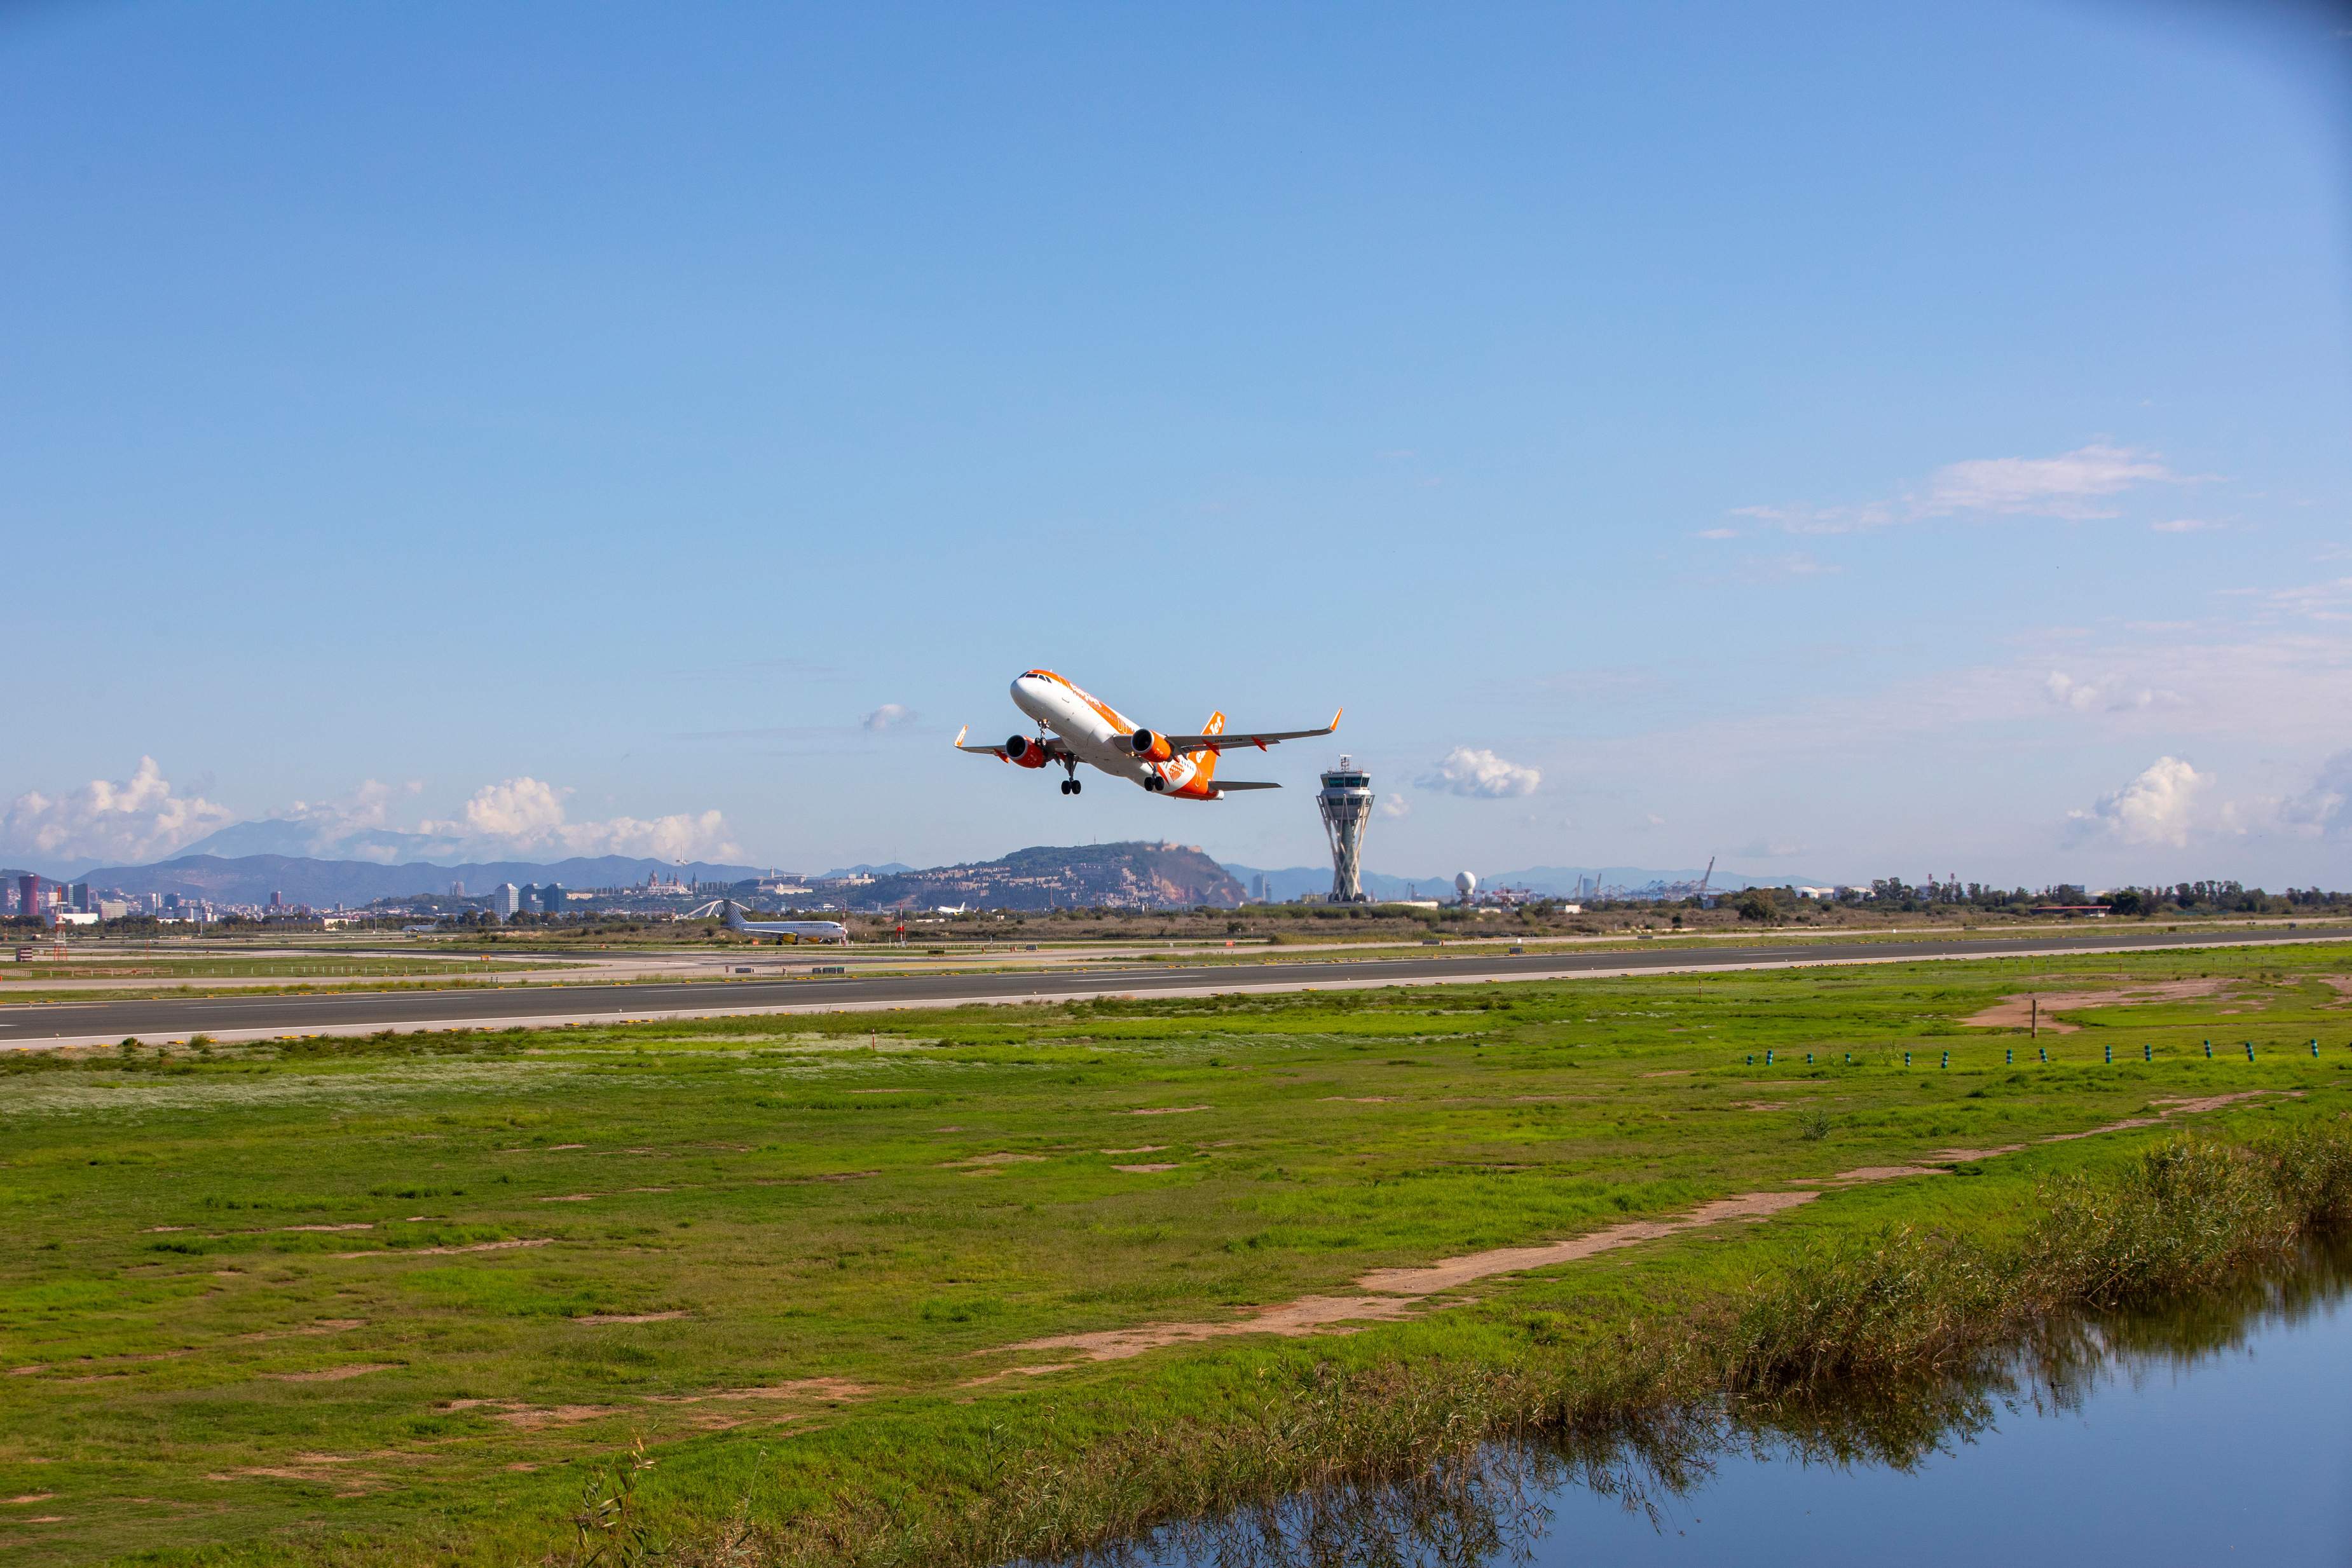
{"label": "calm blue pond reflecting reeds in the bottom right corner", "polygon": [[1508,1443],[1406,1483],[1164,1530],[1155,1566],[2352,1568],[2352,1267],[2056,1326],[1844,1408],[1717,1410],[1588,1450]]}

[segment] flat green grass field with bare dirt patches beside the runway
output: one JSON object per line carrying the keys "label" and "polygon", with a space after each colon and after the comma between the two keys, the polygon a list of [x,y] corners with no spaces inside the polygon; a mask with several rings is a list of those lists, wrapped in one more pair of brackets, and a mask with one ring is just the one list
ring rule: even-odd
{"label": "flat green grass field with bare dirt patches beside the runway", "polygon": [[[2187,1124],[2343,1117],[2347,976],[2352,945],[16,1058],[0,1552],[536,1561],[633,1439],[666,1528],[917,1514],[1317,1363],[1505,1368],[1823,1237],[2011,1234]],[[2023,992],[2105,997],[1962,1023]],[[1359,1284],[1748,1194],[1776,1213]],[[1230,1333],[1296,1302],[1324,1333]]]}

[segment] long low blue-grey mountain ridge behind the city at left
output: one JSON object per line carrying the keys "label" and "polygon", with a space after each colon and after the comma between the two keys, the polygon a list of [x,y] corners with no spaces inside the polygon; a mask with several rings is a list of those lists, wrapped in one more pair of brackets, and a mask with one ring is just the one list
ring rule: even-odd
{"label": "long low blue-grey mountain ridge behind the city at left", "polygon": [[179,856],[158,865],[103,865],[75,882],[113,886],[127,893],[179,893],[216,903],[268,903],[282,893],[287,903],[313,907],[365,905],[376,898],[409,893],[447,893],[463,882],[468,893],[487,893],[501,882],[562,882],[572,889],[621,886],[649,875],[687,882],[743,882],[760,872],[750,865],[710,865],[691,860],[644,860],[635,856],[579,856],[572,860],[475,860],[468,865],[374,865],[369,860],[310,860],[308,856]]}

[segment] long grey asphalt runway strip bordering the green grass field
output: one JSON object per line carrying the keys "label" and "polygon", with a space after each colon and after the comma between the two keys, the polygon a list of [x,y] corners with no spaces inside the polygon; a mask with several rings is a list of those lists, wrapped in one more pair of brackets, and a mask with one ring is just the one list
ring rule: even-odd
{"label": "long grey asphalt runway strip bordering the green grass field", "polygon": [[2143,952],[2159,947],[2244,947],[2345,940],[2345,931],[2084,931],[2027,938],[1947,938],[1900,943],[1788,943],[1773,947],[1684,947],[1658,940],[1616,952],[1538,952],[1524,957],[1463,952],[1458,957],[1331,959],[1301,964],[1152,964],[1044,973],[913,973],[826,976],[790,980],[529,985],[499,990],[332,992],[294,997],[176,997],[125,1001],[59,1001],[0,1006],[0,1046],[54,1046],[122,1037],[176,1039],[207,1032],[221,1039],[254,1034],[355,1034],[400,1027],[555,1025],[616,1018],[717,1018],[727,1013],[889,1006],[953,1006],[1068,997],[1150,997],[1207,992],[1270,992],[1359,985],[1425,985],[1461,980],[1541,980],[1642,971],[1736,971],[1806,964],[1896,959],[2042,957],[2072,952]]}

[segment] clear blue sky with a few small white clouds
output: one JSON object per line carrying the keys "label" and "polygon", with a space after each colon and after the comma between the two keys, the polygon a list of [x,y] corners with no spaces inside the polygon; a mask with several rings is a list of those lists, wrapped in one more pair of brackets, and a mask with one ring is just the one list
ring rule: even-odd
{"label": "clear blue sky with a few small white clouds", "polygon": [[0,860],[1322,856],[948,750],[1044,663],[1345,703],[1397,872],[2345,886],[2347,87],[2291,5],[19,7]]}

